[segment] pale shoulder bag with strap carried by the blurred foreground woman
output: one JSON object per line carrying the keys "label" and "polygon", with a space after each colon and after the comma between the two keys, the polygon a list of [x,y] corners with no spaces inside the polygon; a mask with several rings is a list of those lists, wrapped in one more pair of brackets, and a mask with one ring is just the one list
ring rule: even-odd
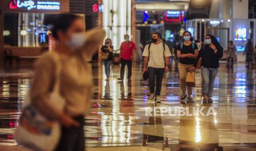
{"label": "pale shoulder bag with strap carried by the blurred foreground woman", "polygon": [[[57,54],[56,54],[57,55]],[[58,61],[59,63],[59,61]],[[56,82],[50,94],[51,101],[57,109],[64,109],[64,99],[59,94],[61,63],[56,69]],[[31,103],[30,93],[23,104],[23,113],[15,130],[15,140],[35,150],[54,150],[61,137],[61,125],[56,120],[48,120]]]}

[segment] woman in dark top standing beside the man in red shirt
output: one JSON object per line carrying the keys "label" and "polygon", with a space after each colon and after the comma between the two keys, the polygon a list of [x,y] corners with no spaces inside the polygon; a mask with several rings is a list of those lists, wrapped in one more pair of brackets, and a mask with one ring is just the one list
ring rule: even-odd
{"label": "woman in dark top standing beside the man in red shirt", "polygon": [[110,67],[113,60],[113,45],[110,38],[105,40],[105,45],[100,49],[101,59],[105,67],[106,80],[110,79]]}

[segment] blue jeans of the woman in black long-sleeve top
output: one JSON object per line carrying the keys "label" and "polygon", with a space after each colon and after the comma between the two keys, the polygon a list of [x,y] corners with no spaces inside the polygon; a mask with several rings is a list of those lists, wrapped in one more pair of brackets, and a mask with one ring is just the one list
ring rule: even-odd
{"label": "blue jeans of the woman in black long-sleeve top", "polygon": [[219,68],[201,67],[201,76],[203,79],[202,94],[211,97],[213,94],[214,80],[216,78]]}

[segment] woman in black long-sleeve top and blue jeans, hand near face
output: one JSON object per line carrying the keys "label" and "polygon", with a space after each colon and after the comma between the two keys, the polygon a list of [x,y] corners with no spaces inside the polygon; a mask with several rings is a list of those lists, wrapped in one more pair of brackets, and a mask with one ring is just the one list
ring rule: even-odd
{"label": "woman in black long-sleeve top and blue jeans, hand near face", "polygon": [[191,70],[194,70],[201,58],[201,76],[203,79],[202,94],[203,103],[212,103],[211,96],[213,94],[214,81],[219,72],[219,59],[223,56],[223,48],[217,39],[208,34],[205,37],[205,45],[199,51],[197,60]]}

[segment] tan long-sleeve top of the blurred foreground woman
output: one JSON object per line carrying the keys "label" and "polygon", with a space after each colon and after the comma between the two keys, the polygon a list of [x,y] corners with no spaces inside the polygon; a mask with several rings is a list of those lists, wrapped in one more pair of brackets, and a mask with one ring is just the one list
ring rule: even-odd
{"label": "tan long-sleeve top of the blurred foreground woman", "polygon": [[[97,34],[97,36],[92,36]],[[85,34],[86,35],[86,34]],[[56,82],[56,69],[59,63],[56,52],[43,55],[35,64],[35,76],[30,91],[31,103],[49,119],[55,119],[63,112],[76,117],[83,115],[90,108],[92,90],[91,67],[87,62],[103,39],[105,32],[94,30],[88,34],[85,48],[77,50],[70,56],[62,55],[60,78],[60,94],[66,101],[64,111],[58,110],[50,98]]]}

